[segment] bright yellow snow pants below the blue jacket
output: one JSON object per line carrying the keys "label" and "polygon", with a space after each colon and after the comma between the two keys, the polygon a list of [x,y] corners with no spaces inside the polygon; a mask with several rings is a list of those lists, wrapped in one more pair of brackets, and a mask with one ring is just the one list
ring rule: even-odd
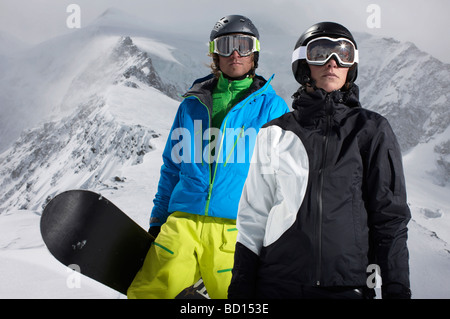
{"label": "bright yellow snow pants below the blue jacket", "polygon": [[208,295],[226,299],[236,245],[236,221],[174,212],[128,289],[128,298],[173,299],[200,277]]}

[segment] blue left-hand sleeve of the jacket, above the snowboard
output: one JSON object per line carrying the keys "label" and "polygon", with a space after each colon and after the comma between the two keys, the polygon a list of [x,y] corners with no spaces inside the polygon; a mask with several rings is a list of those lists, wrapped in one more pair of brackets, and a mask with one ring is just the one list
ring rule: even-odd
{"label": "blue left-hand sleeve of the jacket, above the snowboard", "polygon": [[150,215],[150,227],[161,226],[169,217],[168,207],[173,189],[180,180],[180,164],[176,163],[172,158],[172,150],[174,143],[172,141],[172,133],[174,130],[182,127],[182,108],[178,109],[172,128],[167,138],[162,158],[158,190],[153,200],[153,209]]}

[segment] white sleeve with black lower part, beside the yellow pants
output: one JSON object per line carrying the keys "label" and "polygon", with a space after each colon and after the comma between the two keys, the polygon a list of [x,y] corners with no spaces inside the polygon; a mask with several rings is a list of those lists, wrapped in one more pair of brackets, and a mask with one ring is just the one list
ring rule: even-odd
{"label": "white sleeve with black lower part, beside the yellow pants", "polygon": [[276,181],[270,158],[267,130],[256,138],[248,176],[239,202],[238,237],[228,298],[255,298],[259,254],[269,212],[273,207]]}

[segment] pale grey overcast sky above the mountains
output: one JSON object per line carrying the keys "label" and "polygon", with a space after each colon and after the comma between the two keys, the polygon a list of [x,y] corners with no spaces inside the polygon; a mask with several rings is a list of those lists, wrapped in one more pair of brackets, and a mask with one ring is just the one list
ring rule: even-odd
{"label": "pale grey overcast sky above the mountains", "polygon": [[0,31],[27,43],[70,32],[66,9],[72,3],[81,8],[81,27],[116,7],[152,25],[207,38],[219,18],[243,14],[254,22],[271,20],[293,35],[293,44],[310,25],[336,21],[351,31],[412,41],[450,63],[449,0],[0,0]]}

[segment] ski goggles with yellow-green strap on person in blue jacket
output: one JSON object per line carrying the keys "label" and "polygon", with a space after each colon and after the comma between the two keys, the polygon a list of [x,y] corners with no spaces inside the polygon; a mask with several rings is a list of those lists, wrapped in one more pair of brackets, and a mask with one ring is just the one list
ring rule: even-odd
{"label": "ski goggles with yellow-green strap on person in blue jacket", "polygon": [[229,57],[234,51],[237,51],[240,56],[249,56],[259,50],[259,40],[243,34],[224,35],[209,43],[209,53],[217,53],[224,57]]}

